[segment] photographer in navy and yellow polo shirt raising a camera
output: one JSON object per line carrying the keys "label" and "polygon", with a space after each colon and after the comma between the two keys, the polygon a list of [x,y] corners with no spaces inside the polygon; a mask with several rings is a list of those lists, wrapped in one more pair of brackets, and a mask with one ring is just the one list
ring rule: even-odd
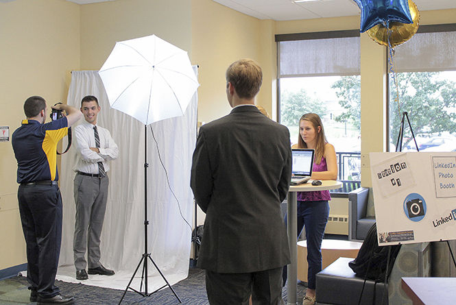
{"label": "photographer in navy and yellow polo shirt raising a camera", "polygon": [[12,134],[20,184],[19,212],[27,245],[27,281],[32,291],[30,302],[38,301],[38,305],[73,304],[73,297],[63,297],[54,285],[62,241],[57,144],[67,135],[68,127],[82,117],[82,112],[61,103],[52,108],[64,110],[67,115],[45,123],[45,99],[29,97],[24,103],[27,119]]}

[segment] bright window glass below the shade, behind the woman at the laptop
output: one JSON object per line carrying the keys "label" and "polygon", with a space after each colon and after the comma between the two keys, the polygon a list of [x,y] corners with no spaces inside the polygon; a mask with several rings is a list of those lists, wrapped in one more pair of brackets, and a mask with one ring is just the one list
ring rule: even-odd
{"label": "bright window glass below the shade, behind the woman at the laptop", "polygon": [[339,180],[361,180],[360,83],[359,75],[280,79],[280,123],[289,128],[291,143],[298,142],[302,114],[318,114],[336,149]]}

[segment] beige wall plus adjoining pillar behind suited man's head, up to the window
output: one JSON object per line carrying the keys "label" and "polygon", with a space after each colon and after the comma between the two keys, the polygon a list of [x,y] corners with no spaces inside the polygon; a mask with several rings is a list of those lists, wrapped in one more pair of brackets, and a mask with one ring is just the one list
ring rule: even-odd
{"label": "beige wall plus adjoining pillar behind suited man's head, up to the window", "polygon": [[198,121],[209,122],[230,112],[225,71],[240,58],[252,58],[263,69],[256,103],[276,110],[275,22],[241,14],[212,0],[192,0],[192,62],[199,64]]}

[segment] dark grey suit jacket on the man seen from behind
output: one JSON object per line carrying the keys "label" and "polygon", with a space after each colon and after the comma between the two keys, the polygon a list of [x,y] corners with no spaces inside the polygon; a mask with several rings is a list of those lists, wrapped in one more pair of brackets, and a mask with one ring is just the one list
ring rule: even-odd
{"label": "dark grey suit jacket on the man seen from behind", "polygon": [[289,131],[254,106],[203,125],[191,188],[206,212],[198,267],[245,273],[289,264],[280,203],[291,178]]}

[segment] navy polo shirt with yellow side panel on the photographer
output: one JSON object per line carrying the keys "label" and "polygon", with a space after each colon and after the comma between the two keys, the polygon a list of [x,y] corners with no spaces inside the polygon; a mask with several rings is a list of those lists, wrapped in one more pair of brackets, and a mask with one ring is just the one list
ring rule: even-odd
{"label": "navy polo shirt with yellow side panel on the photographer", "polygon": [[42,124],[23,120],[11,137],[17,160],[17,182],[58,180],[57,143],[68,134],[66,117]]}

